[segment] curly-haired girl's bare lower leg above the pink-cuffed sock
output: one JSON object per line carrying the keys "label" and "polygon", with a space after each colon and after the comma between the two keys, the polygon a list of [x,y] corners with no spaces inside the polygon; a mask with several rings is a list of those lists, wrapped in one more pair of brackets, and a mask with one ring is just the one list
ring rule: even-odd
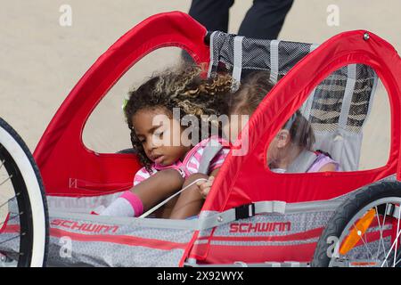
{"label": "curly-haired girl's bare lower leg above the pink-cuffed sock", "polygon": [[131,191],[141,199],[146,211],[180,190],[183,183],[184,178],[176,169],[164,169],[137,184]]}

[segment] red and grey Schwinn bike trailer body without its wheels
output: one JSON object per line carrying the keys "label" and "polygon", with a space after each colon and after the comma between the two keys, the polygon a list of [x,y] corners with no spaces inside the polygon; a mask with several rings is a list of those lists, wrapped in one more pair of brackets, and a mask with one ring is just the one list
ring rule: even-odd
{"label": "red and grey Schwinn bike trailer body without its wheels", "polygon": [[[180,47],[197,63],[209,64],[209,45],[204,41],[206,34],[207,30],[201,24],[183,12],[160,13],[129,30],[94,62],[57,110],[34,152],[49,199],[95,199],[113,194],[116,197],[120,191],[126,191],[132,186],[133,176],[141,167],[138,160],[132,155],[97,153],[87,149],[82,142],[86,120],[110,88],[135,62],[160,47]],[[387,164],[364,171],[288,174],[284,179],[282,175],[271,172],[265,163],[266,142],[272,141],[274,134],[325,77],[343,66],[356,63],[374,69],[389,94],[391,143]],[[177,249],[174,258],[167,257],[172,260],[169,264],[143,261],[143,264],[134,262],[128,265],[182,266],[188,264],[188,261],[194,264],[194,260],[196,264],[225,265],[235,261],[282,263],[291,260],[310,263],[316,242],[334,211],[327,212],[322,223],[296,229],[295,223],[299,219],[319,219],[324,211],[315,212],[315,216],[302,216],[295,212],[283,215],[282,210],[290,209],[291,205],[323,201],[322,206],[324,201],[330,203],[339,197],[348,197],[348,194],[361,187],[377,183],[386,177],[392,177],[390,180],[397,183],[401,178],[400,77],[400,57],[380,37],[364,30],[331,37],[290,69],[250,118],[249,140],[245,142],[240,135],[237,141],[240,146],[248,144],[248,153],[244,156],[228,155],[201,210],[200,220],[213,220],[210,227],[203,226],[187,231],[184,239],[175,241],[174,234],[164,239],[160,238],[163,234],[159,235],[157,231],[144,236],[128,236],[127,232],[121,233],[117,230],[113,232],[114,222],[109,223],[102,218],[101,222],[96,220],[89,223],[87,221],[91,216],[86,216],[85,219],[80,217],[79,224],[74,220],[74,215],[70,219],[66,218],[68,215],[55,215],[51,218],[52,243],[57,244],[61,237],[70,236],[74,242],[98,242],[100,248],[109,247],[110,243],[116,242],[141,250],[158,249],[158,252],[164,253]],[[233,209],[236,209],[238,214],[241,209],[248,209],[252,204],[258,205],[258,202],[269,202],[271,211],[267,216],[273,219],[264,220],[263,215],[245,215],[237,216],[241,218],[239,221],[228,219],[229,223],[226,223],[225,213],[232,215]],[[51,200],[49,205],[52,206]],[[50,209],[52,216],[52,208]],[[153,223],[150,221],[152,219],[131,220],[135,220],[134,224],[141,225]],[[221,226],[217,220],[221,222]],[[109,224],[110,229],[106,231],[107,234],[103,231],[105,228],[98,232],[82,232],[82,221],[88,224]],[[166,221],[164,227],[168,228],[173,222],[175,221]],[[183,225],[186,222],[176,223]],[[258,232],[262,225],[270,227],[271,231]],[[57,252],[59,248],[56,245],[54,247],[54,252]],[[86,245],[82,248],[85,247]],[[99,249],[98,254],[102,255],[102,250]],[[115,254],[119,255],[119,252]],[[160,258],[158,254],[154,256]],[[93,265],[116,265],[103,261],[96,263],[94,257],[91,258],[83,260]]]}

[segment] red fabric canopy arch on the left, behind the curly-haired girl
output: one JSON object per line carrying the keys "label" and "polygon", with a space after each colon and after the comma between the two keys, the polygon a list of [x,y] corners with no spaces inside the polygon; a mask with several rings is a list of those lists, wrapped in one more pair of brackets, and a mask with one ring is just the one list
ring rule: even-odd
{"label": "red fabric canopy arch on the left, behind the curly-haired girl", "polygon": [[94,62],[57,110],[34,152],[48,194],[95,196],[132,186],[138,161],[86,149],[86,120],[119,77],[160,47],[178,46],[197,62],[209,61],[209,46],[203,43],[206,32],[183,12],[160,13],[129,30]]}

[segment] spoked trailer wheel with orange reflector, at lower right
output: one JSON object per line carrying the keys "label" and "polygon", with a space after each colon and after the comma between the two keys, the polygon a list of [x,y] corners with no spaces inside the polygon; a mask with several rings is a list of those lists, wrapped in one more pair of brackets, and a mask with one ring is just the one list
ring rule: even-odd
{"label": "spoked trailer wheel with orange reflector, at lower right", "polygon": [[314,267],[400,267],[401,183],[374,183],[346,200],[317,242]]}

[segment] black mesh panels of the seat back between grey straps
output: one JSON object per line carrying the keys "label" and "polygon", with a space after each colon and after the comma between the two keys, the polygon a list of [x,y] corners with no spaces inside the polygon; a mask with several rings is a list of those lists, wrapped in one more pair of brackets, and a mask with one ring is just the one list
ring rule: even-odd
{"label": "black mesh panels of the seat back between grey straps", "polygon": [[[211,76],[219,71],[232,72],[234,61],[234,37],[232,34],[215,32],[212,37]],[[244,37],[242,40],[241,79],[251,71],[272,71],[272,41]],[[304,58],[312,44],[280,41],[278,43],[278,77],[280,80],[287,72]],[[351,103],[345,129],[359,133],[369,113],[371,96],[377,75],[374,70],[362,64],[356,64],[356,74],[348,74],[345,66],[331,73],[311,94],[313,101],[310,110],[304,108],[304,115],[309,118],[316,132],[335,132],[339,127],[341,109],[346,95],[348,80],[355,80],[351,90]],[[343,115],[344,116],[344,115]]]}

